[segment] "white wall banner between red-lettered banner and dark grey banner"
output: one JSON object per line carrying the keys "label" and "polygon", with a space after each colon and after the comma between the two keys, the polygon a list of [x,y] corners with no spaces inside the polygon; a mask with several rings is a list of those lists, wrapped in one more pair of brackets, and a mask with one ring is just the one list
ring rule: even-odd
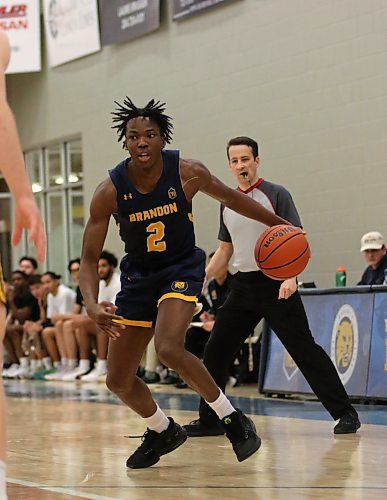
{"label": "white wall banner between red-lettered banner and dark grey banner", "polygon": [[43,0],[48,65],[101,49],[97,0]]}

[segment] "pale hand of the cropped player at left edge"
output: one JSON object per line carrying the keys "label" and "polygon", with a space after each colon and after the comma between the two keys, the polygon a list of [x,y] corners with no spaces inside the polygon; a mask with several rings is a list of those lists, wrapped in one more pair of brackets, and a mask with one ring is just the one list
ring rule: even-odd
{"label": "pale hand of the cropped player at left edge", "polygon": [[33,196],[26,196],[16,200],[15,223],[12,234],[12,244],[18,245],[23,229],[28,231],[28,243],[34,244],[36,256],[40,262],[46,258],[46,231],[39,209]]}

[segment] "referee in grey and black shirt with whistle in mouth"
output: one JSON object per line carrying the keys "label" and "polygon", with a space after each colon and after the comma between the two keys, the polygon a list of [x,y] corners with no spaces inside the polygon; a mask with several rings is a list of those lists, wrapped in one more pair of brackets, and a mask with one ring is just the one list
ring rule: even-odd
{"label": "referee in grey and black shirt with whistle in mouth", "polygon": [[[259,177],[258,144],[249,137],[236,137],[227,145],[231,172],[238,191],[272,213],[301,227],[292,197],[282,186]],[[266,229],[222,204],[219,246],[206,268],[206,278],[228,264],[234,256],[238,272],[231,280],[231,292],[219,309],[215,326],[204,353],[204,364],[224,391],[228,367],[243,342],[262,318],[265,318],[305,376],[309,385],[334,420],[340,419],[335,434],[356,432],[360,422],[356,410],[326,352],[315,343],[309,329],[296,278],[276,281],[257,270],[254,247]],[[219,355],[221,353],[221,355]],[[199,419],[185,425],[189,436],[223,434],[217,415],[204,399]]]}

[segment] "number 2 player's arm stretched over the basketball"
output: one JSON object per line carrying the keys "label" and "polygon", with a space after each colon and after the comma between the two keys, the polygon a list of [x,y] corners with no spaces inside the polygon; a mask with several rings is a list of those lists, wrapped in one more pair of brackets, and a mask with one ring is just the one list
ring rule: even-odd
{"label": "number 2 player's arm stretched over the basketball", "polygon": [[267,226],[289,224],[288,221],[270,212],[249,196],[223,184],[199,161],[182,160],[181,173],[184,191],[188,198],[192,198],[197,191],[202,191],[235,212],[262,222]]}

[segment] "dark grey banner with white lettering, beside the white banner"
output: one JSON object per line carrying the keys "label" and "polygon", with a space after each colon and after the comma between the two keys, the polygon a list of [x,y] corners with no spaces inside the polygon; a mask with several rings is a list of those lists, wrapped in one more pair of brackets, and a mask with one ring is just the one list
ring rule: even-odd
{"label": "dark grey banner with white lettering, beside the white banner", "polygon": [[102,45],[125,42],[160,26],[160,0],[104,0],[100,6]]}

